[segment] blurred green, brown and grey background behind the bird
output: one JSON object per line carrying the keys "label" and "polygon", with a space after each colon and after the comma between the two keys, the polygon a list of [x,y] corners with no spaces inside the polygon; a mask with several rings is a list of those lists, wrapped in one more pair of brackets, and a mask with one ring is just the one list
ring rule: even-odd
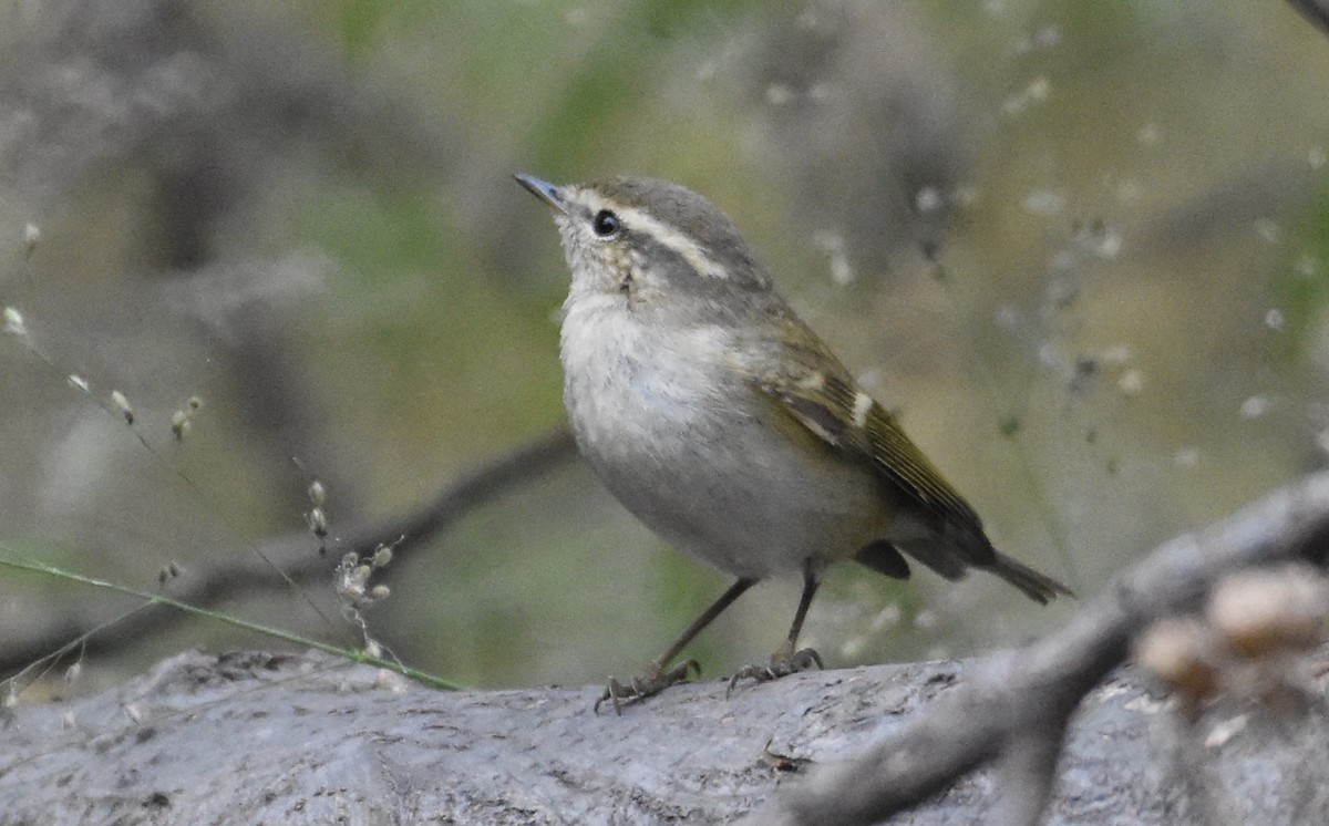
{"label": "blurred green, brown and grey background behind the bird", "polygon": [[[7,3],[0,558],[152,591],[295,537],[300,592],[218,607],[355,641],[342,531],[563,424],[567,275],[512,174],[631,173],[726,210],[997,543],[1092,596],[1324,465],[1326,166],[1329,39],[1278,3]],[[530,477],[379,574],[376,640],[602,684],[727,587],[579,462]],[[797,590],[716,621],[706,675],[764,661]],[[0,655],[137,604],[0,567]],[[805,641],[964,656],[1074,608],[847,564]],[[161,623],[84,684],[278,645]]]}

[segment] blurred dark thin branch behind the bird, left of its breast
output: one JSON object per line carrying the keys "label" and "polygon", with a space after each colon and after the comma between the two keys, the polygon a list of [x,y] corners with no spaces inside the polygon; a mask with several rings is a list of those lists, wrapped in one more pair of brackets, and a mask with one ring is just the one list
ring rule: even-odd
{"label": "blurred dark thin branch behind the bird, left of its breast", "polygon": [[[457,477],[433,499],[412,513],[339,531],[338,540],[330,543],[332,552],[328,556],[320,556],[315,550],[318,543],[303,531],[268,539],[259,550],[295,582],[331,578],[332,567],[344,552],[356,551],[363,555],[372,552],[380,543],[392,543],[404,537],[396,543],[395,551],[405,554],[412,547],[437,538],[472,509],[537,479],[575,455],[571,433],[566,428],[560,428]],[[171,580],[171,598],[206,607],[238,594],[286,587],[286,583],[272,572],[272,567],[258,555],[241,551],[226,556],[234,558],[234,562],[206,568],[190,566],[182,571]],[[104,625],[109,619],[106,614],[105,608],[89,608],[81,615],[74,615],[72,611],[60,612],[60,616],[43,628],[0,649],[0,676],[13,673],[58,649],[70,639]],[[113,632],[92,636],[86,651],[100,653],[133,645],[141,641],[145,633],[161,632],[182,619],[185,615],[170,608],[149,606],[116,623]]]}

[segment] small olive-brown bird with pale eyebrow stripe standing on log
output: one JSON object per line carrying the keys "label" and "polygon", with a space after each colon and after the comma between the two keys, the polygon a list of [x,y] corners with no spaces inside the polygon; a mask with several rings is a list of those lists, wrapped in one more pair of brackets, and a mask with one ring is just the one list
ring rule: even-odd
{"label": "small olive-brown bird with pale eyebrow stripe standing on log", "polygon": [[650,178],[556,186],[571,270],[563,404],[582,455],[618,499],[734,584],[629,683],[619,709],[687,679],[679,652],[758,580],[801,571],[803,595],[771,661],[730,681],[821,665],[799,632],[827,564],[946,579],[990,571],[1046,603],[1066,586],[997,551],[978,514],[861,390],[775,291],[738,230],[696,193]]}

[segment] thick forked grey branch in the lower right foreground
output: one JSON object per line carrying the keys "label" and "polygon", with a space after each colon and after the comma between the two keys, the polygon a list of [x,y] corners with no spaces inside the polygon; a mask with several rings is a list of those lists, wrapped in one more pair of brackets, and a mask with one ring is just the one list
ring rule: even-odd
{"label": "thick forked grey branch in the lower right foreground", "polygon": [[1037,822],[1071,713],[1126,659],[1134,635],[1200,607],[1224,574],[1296,559],[1322,567],[1326,556],[1329,473],[1321,473],[1160,546],[1069,625],[987,660],[863,758],[815,773],[752,822],[873,823],[989,762],[1003,781],[1005,822]]}

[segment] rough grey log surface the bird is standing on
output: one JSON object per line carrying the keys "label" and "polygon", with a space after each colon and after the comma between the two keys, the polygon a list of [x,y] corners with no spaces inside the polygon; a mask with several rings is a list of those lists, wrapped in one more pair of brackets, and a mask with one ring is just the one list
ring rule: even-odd
{"label": "rough grey log surface the bird is standing on", "polygon": [[[811,672],[730,700],[707,681],[615,716],[591,713],[598,685],[437,692],[319,653],[183,653],[100,696],[12,709],[0,822],[732,822],[973,673]],[[1076,713],[1045,817],[1313,822],[1326,757],[1322,696],[1277,713],[1229,699],[1185,722],[1126,669]],[[981,769],[890,822],[982,822],[1001,784]]]}

